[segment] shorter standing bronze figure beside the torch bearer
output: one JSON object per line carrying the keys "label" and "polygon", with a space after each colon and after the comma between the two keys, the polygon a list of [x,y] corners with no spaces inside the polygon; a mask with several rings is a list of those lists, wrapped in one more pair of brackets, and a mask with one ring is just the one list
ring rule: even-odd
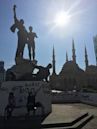
{"label": "shorter standing bronze figure beside the torch bearer", "polygon": [[29,32],[28,32],[28,50],[29,50],[29,59],[33,57],[33,60],[35,59],[35,38],[38,38],[36,33],[32,32],[33,28],[32,26],[29,26]]}

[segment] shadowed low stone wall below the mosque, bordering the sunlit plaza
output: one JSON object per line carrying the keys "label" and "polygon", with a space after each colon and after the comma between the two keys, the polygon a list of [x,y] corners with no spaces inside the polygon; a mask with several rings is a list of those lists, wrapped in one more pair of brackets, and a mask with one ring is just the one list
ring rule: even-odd
{"label": "shadowed low stone wall below the mosque, bordering the sunlit plaza", "polygon": [[52,93],[52,103],[85,103],[97,106],[97,93]]}

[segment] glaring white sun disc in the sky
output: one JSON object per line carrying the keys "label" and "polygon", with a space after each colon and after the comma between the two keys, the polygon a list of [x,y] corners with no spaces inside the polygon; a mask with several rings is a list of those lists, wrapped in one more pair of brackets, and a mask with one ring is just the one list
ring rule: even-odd
{"label": "glaring white sun disc in the sky", "polygon": [[70,22],[70,15],[67,12],[61,11],[55,15],[54,23],[56,26],[66,26]]}

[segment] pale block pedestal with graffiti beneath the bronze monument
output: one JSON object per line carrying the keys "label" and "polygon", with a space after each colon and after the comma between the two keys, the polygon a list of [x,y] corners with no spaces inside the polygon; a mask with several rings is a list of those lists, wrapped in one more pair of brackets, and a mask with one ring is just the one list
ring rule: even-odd
{"label": "pale block pedestal with graffiti beneath the bronze monument", "polygon": [[[7,81],[2,84],[0,89],[0,115],[4,116],[4,110],[8,104],[9,92],[13,92],[16,100],[16,108],[12,115],[25,116],[27,114],[28,93],[33,91],[33,89],[37,92],[35,102],[41,103],[44,115],[49,114],[52,111],[49,83],[43,81]],[[41,110],[41,107],[37,108],[35,115],[41,115]]]}

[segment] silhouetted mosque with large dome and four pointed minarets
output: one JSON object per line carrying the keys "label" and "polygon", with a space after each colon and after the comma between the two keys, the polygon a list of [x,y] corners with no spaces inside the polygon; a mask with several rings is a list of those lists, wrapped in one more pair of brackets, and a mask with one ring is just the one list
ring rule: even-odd
{"label": "silhouetted mosque with large dome and four pointed minarets", "polygon": [[53,48],[53,72],[50,76],[50,85],[52,90],[60,91],[97,91],[97,66],[89,65],[88,53],[85,47],[85,70],[81,69],[76,63],[75,44],[72,40],[72,60],[68,60],[66,53],[66,62],[59,74],[56,74],[55,50]]}

